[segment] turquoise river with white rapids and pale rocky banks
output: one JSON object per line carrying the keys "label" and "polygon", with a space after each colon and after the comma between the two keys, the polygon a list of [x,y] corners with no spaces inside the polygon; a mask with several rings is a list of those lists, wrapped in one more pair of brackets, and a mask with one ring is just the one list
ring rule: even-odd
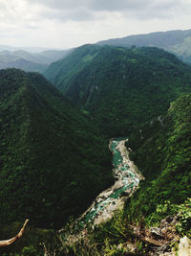
{"label": "turquoise river with white rapids and pale rocky banks", "polygon": [[126,198],[138,189],[143,176],[129,159],[129,151],[125,147],[127,138],[111,139],[109,148],[113,152],[115,184],[100,193],[87,211],[78,219],[80,225],[88,222],[99,224],[112,218],[114,212],[124,205]]}

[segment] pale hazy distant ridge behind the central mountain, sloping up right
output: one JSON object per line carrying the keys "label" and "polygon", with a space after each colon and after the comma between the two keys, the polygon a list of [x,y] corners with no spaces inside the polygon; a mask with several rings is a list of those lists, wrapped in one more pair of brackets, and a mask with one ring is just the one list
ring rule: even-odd
{"label": "pale hazy distant ridge behind the central mountain, sloping up right", "polygon": [[109,39],[97,42],[98,45],[113,45],[130,47],[156,46],[174,53],[180,59],[191,63],[191,30],[156,32],[147,35],[129,35],[122,38]]}

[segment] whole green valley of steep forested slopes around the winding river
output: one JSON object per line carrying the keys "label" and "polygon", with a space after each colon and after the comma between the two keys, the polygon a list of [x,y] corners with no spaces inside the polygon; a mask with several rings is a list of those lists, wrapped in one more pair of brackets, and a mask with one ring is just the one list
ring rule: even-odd
{"label": "whole green valley of steep forested slopes around the winding river", "polygon": [[50,55],[46,78],[0,70],[0,236],[30,219],[3,255],[176,249],[191,237],[191,67],[157,47],[35,59]]}

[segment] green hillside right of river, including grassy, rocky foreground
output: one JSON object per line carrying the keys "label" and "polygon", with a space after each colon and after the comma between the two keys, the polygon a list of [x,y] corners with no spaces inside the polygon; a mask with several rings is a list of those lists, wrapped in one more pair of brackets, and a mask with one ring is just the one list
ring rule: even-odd
{"label": "green hillside right of river, including grassy, rocky foreground", "polygon": [[188,94],[172,103],[160,119],[144,126],[141,135],[132,133],[127,146],[133,148],[131,158],[146,177],[138,192],[111,221],[65,244],[63,253],[178,255],[180,238],[191,234],[190,135]]}

